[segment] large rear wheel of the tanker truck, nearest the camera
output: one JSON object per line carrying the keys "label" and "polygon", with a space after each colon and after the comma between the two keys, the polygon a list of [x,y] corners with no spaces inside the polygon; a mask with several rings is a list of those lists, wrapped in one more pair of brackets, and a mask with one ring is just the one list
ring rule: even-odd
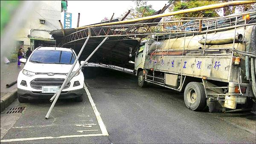
{"label": "large rear wheel of the tanker truck, nearest the camera", "polygon": [[191,110],[203,110],[206,105],[204,86],[198,82],[190,82],[187,84],[184,90],[184,101],[186,107]]}

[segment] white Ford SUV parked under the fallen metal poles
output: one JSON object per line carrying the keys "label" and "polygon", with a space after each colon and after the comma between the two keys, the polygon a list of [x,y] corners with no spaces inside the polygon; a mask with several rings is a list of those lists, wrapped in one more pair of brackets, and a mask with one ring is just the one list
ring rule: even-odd
{"label": "white Ford SUV parked under the fallen metal poles", "polygon": [[[39,47],[29,56],[17,78],[17,97],[20,103],[27,99],[50,99],[60,89],[72,64],[76,60],[73,49]],[[77,61],[73,72],[79,68]],[[82,101],[84,74],[79,72],[66,84],[59,98],[76,98]]]}

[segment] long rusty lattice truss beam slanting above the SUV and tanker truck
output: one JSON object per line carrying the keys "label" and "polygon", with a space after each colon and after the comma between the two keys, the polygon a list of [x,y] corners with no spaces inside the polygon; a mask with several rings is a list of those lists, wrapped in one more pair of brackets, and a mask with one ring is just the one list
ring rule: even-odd
{"label": "long rusty lattice truss beam slanting above the SUV and tanker truck", "polygon": [[[206,32],[212,32],[223,29],[230,29],[241,26],[249,26],[255,23],[250,21],[255,20],[255,15],[251,20],[244,21],[243,16],[245,14],[255,14],[256,12],[247,12],[243,14],[235,14],[232,16],[216,17],[216,18],[197,18],[189,17],[187,20],[171,20],[158,23],[135,23],[127,25],[116,25],[116,26],[101,26],[101,27],[89,27],[74,32],[66,37],[63,37],[61,43],[58,44],[62,47],[66,44],[73,43],[75,41],[83,40],[88,37],[122,37],[127,39],[128,37],[147,37],[148,35],[166,35],[166,34],[202,34]],[[236,22],[232,20],[238,17]],[[185,18],[183,18],[185,19]],[[190,23],[188,23],[190,22]],[[220,23],[221,22],[221,23]],[[183,23],[181,26],[177,26],[175,29],[173,26],[177,23]],[[184,25],[184,23],[187,23]],[[209,23],[207,30],[207,25]],[[219,24],[220,23],[220,24]],[[224,27],[229,24],[229,26]],[[201,30],[203,26],[204,30]]]}

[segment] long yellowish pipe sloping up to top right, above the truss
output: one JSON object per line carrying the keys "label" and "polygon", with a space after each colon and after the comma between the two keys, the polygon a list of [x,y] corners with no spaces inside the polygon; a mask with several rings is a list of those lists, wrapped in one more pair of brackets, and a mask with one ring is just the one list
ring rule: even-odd
{"label": "long yellowish pipe sloping up to top right, above the truss", "polygon": [[94,24],[94,25],[90,25],[90,26],[81,26],[81,27],[78,27],[75,29],[85,29],[88,27],[109,26],[109,25],[122,24],[122,23],[131,23],[131,22],[137,22],[140,20],[149,20],[149,19],[153,19],[153,18],[167,17],[167,16],[171,16],[171,15],[176,15],[176,14],[204,11],[207,9],[218,9],[218,8],[223,8],[223,7],[227,7],[227,6],[237,6],[237,5],[250,4],[250,3],[256,3],[256,0],[234,0],[231,2],[212,4],[212,5],[201,6],[201,7],[196,7],[196,8],[192,8],[192,9],[183,9],[180,11],[170,12],[167,14],[156,14],[156,15],[152,15],[152,16],[148,16],[148,17],[140,17],[140,18],[136,18],[136,19],[132,19],[132,20],[122,20],[122,21],[116,21],[116,22],[111,22],[111,23],[101,23],[101,24]]}

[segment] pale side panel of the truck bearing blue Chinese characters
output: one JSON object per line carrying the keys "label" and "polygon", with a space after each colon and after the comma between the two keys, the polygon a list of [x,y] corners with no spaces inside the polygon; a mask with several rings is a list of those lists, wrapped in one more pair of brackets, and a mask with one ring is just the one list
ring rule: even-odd
{"label": "pale side panel of the truck bearing blue Chinese characters", "polygon": [[[188,75],[202,78],[203,76],[218,81],[228,82],[230,72],[231,56],[162,56],[146,55],[145,69],[154,69],[158,71]],[[156,62],[154,62],[156,60]]]}

